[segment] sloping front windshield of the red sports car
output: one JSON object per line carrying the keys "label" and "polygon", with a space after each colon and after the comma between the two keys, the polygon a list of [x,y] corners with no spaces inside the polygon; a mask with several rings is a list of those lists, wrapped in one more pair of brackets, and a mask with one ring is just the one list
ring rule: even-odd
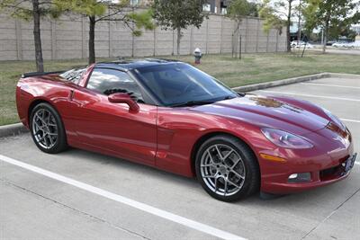
{"label": "sloping front windshield of the red sports car", "polygon": [[143,67],[136,71],[148,91],[165,106],[205,104],[237,96],[212,76],[184,63]]}

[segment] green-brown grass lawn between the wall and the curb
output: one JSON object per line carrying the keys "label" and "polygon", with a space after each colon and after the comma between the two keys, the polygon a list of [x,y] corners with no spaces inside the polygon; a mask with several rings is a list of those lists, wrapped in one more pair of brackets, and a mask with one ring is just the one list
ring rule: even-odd
{"label": "green-brown grass lawn between the wall and the curb", "polygon": [[[192,56],[180,59],[193,62]],[[86,65],[85,59],[45,61],[45,70],[64,70],[81,65]],[[202,64],[197,67],[235,87],[321,72],[360,74],[360,56],[307,53],[304,58],[298,58],[285,53],[246,54],[242,60],[238,60],[229,55],[208,55],[202,58]],[[15,107],[15,86],[23,73],[34,70],[32,61],[0,62],[0,125],[19,121]]]}

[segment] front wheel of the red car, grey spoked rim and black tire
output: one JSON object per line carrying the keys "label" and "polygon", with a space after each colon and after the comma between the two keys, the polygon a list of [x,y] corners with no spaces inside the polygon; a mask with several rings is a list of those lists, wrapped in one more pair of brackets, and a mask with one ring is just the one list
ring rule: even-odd
{"label": "front wheel of the red car, grey spoked rim and black tire", "polygon": [[217,200],[244,199],[260,186],[257,158],[238,138],[221,135],[206,140],[195,169],[202,188]]}

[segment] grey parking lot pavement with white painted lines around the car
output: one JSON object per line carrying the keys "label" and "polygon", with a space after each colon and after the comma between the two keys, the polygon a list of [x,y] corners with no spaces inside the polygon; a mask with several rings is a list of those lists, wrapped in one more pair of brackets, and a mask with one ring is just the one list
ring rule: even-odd
{"label": "grey parking lot pavement with white painted lines around the car", "polygon": [[[256,93],[289,95],[333,111],[360,152],[360,79],[320,79]],[[345,181],[271,200],[225,203],[193,179],[144,165],[78,149],[44,154],[29,134],[1,138],[0,155],[0,239],[360,237],[360,158]]]}

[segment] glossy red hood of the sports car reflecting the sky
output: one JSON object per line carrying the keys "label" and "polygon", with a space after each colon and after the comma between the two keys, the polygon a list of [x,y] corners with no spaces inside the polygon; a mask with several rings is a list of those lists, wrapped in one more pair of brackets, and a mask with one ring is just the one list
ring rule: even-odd
{"label": "glossy red hood of the sports car reflecting the sky", "polygon": [[299,135],[323,129],[329,124],[328,119],[311,111],[253,94],[195,106],[189,110],[245,121],[260,128],[283,129]]}

